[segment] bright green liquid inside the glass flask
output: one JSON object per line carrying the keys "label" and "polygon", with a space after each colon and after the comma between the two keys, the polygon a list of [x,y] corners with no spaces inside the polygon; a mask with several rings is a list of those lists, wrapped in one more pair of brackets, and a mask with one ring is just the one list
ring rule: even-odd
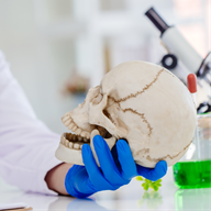
{"label": "bright green liquid inside the glass flask", "polygon": [[175,182],[179,188],[211,187],[211,160],[179,162],[173,169]]}

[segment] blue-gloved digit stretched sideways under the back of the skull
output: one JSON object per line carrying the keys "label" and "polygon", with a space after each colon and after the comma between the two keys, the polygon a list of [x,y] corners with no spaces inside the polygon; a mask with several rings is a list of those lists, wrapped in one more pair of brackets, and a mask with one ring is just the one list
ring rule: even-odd
{"label": "blue-gloved digit stretched sideways under the back of the skull", "polygon": [[156,164],[155,168],[146,168],[140,165],[136,165],[137,174],[149,179],[152,181],[156,181],[164,177],[167,173],[167,163],[165,160],[160,160]]}

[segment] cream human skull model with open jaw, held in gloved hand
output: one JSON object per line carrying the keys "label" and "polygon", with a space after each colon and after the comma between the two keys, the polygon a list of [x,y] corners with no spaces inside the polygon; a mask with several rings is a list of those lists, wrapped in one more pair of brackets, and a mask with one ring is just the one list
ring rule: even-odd
{"label": "cream human skull model with open jaw, held in gloved hand", "polygon": [[[84,165],[81,146],[102,135],[110,148],[127,141],[136,164],[155,167],[159,160],[177,163],[193,138],[197,113],[187,87],[167,69],[145,62],[118,65],[89,89],[84,103],[67,112],[56,157]],[[98,163],[99,164],[99,163]]]}

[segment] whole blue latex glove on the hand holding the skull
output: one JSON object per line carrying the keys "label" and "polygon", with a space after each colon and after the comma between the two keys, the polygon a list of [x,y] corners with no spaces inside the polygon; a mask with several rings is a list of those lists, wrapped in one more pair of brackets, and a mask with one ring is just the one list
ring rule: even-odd
{"label": "whole blue latex glove on the hand holding the skull", "polygon": [[155,168],[136,165],[124,140],[119,140],[111,152],[107,142],[100,135],[96,135],[93,146],[100,168],[96,164],[90,146],[84,144],[85,166],[74,165],[65,179],[66,190],[73,197],[85,198],[101,190],[116,190],[138,175],[155,181],[167,171],[167,164],[164,160],[157,163]]}

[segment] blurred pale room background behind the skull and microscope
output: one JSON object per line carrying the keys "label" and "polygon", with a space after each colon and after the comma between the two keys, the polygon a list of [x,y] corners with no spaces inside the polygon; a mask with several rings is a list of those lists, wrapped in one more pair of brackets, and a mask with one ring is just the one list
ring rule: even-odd
{"label": "blurred pale room background behind the skull and microscope", "polygon": [[209,0],[0,0],[0,48],[51,130],[66,131],[62,115],[118,64],[160,62],[151,7],[202,57],[211,49]]}

